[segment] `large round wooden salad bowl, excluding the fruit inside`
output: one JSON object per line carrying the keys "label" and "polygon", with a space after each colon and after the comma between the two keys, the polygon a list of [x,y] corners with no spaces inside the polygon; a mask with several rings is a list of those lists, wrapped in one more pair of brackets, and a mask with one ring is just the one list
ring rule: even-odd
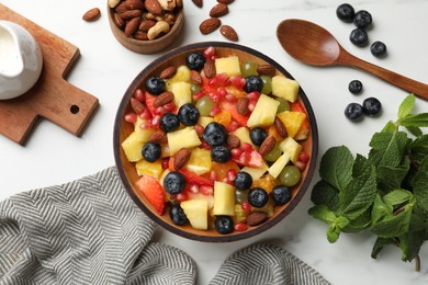
{"label": "large round wooden salad bowl, excluding the fruit inside", "polygon": [[316,158],[318,153],[318,132],[315,121],[314,112],[311,107],[309,101],[305,92],[300,89],[300,99],[299,101],[303,104],[311,124],[309,136],[306,140],[300,141],[303,145],[304,150],[309,155],[311,160],[307,162],[305,170],[302,172],[302,179],[300,183],[292,189],[292,197],[289,203],[282,206],[275,206],[273,216],[264,221],[263,224],[255,227],[249,227],[246,231],[234,231],[229,235],[221,235],[215,229],[211,230],[196,230],[191,226],[176,226],[171,223],[168,209],[164,212],[164,215],[160,216],[156,213],[154,207],[147,202],[143,194],[136,189],[135,182],[138,179],[138,175],[135,170],[135,163],[127,161],[121,142],[133,132],[133,124],[124,121],[125,114],[132,111],[129,101],[133,96],[135,90],[144,89],[144,82],[148,77],[159,75],[165,68],[169,66],[179,66],[184,64],[185,56],[191,52],[203,52],[210,46],[214,46],[216,53],[219,56],[237,55],[240,59],[250,59],[259,64],[270,64],[275,67],[277,75],[282,73],[288,78],[293,79],[293,77],[278,62],[269,58],[268,56],[254,50],[251,48],[240,46],[237,44],[222,43],[222,42],[206,42],[206,43],[196,43],[188,46],[182,46],[176,48],[155,61],[148,65],[134,79],[128,89],[126,90],[121,104],[117,110],[115,124],[114,124],[114,157],[115,163],[117,167],[119,175],[122,179],[125,190],[133,198],[133,201],[138,205],[138,207],[154,221],[164,227],[165,229],[174,232],[181,237],[189,238],[198,241],[207,241],[207,242],[226,242],[241,240],[249,237],[254,237],[260,232],[266,231],[271,228],[280,220],[282,220],[286,215],[289,215],[293,208],[299,204],[302,196],[306,192],[311,180],[314,174]]}

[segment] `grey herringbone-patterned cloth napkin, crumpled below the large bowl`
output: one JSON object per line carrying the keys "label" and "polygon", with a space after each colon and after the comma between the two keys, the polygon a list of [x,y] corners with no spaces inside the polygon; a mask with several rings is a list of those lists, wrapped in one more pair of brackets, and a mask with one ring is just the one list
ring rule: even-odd
{"label": "grey herringbone-patterned cloth napkin, crumpled below the large bowl", "polygon": [[[184,252],[151,242],[156,225],[131,201],[115,168],[0,203],[0,285],[194,284]],[[328,284],[281,248],[228,258],[210,283]]]}

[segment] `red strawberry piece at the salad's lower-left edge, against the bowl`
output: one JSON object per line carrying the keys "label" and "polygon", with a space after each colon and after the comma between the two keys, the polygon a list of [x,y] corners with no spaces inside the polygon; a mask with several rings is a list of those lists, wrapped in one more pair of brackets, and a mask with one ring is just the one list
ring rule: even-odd
{"label": "red strawberry piece at the salad's lower-left edge, against the bowl", "polygon": [[135,182],[135,185],[151,206],[155,207],[156,212],[162,215],[165,208],[165,191],[157,179],[149,175],[143,175]]}

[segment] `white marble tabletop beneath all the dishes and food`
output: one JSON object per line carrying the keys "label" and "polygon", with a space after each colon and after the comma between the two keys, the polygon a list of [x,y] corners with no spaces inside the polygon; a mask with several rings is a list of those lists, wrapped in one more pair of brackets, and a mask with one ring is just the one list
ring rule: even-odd
{"label": "white marble tabletop beneath all the dishes and food", "polygon": [[[106,1],[2,0],[2,4],[21,13],[41,26],[80,48],[81,58],[72,69],[69,81],[100,99],[101,107],[81,138],[74,137],[49,122],[41,122],[25,147],[0,136],[0,200],[15,193],[68,182],[92,174],[114,164],[112,129],[119,102],[134,77],[158,55],[138,55],[121,46],[109,29]],[[202,35],[198,26],[204,20],[214,0],[204,0],[203,9],[185,0],[185,32],[176,45],[202,41],[223,41],[219,33]],[[428,11],[427,0],[356,0],[356,10],[368,10],[373,16],[371,41],[383,41],[388,56],[378,59],[368,47],[359,48],[348,39],[351,24],[340,22],[335,14],[341,1],[335,0],[236,0],[230,13],[223,18],[236,29],[239,44],[269,55],[282,64],[301,83],[317,115],[319,153],[329,147],[347,145],[356,153],[367,155],[371,134],[395,118],[398,104],[406,92],[372,76],[349,68],[315,68],[292,59],[275,37],[280,21],[305,19],[328,29],[357,56],[413,79],[428,82]],[[90,8],[99,7],[102,16],[94,23],[81,20]],[[1,15],[0,15],[1,18]],[[359,79],[364,84],[361,95],[347,90],[348,82]],[[343,116],[350,102],[362,102],[376,96],[383,103],[383,114],[353,124]],[[417,101],[417,110],[428,112],[426,101]],[[315,175],[314,182],[318,175]],[[336,244],[326,240],[326,226],[307,215],[312,206],[305,195],[296,209],[268,232],[250,240],[233,243],[201,243],[182,239],[158,229],[156,239],[188,252],[198,264],[198,284],[206,284],[223,260],[245,246],[268,241],[308,263],[333,284],[427,284],[428,248],[420,252],[421,271],[403,263],[399,251],[386,248],[378,260],[370,258],[373,237],[342,235]]]}

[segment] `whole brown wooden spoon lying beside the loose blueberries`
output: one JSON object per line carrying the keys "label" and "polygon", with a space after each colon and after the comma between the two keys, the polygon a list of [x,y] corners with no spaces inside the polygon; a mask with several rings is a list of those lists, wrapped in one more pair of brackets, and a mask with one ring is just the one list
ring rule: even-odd
{"label": "whole brown wooden spoon lying beside the loose blueberries", "polygon": [[428,99],[428,86],[349,54],[322,26],[304,20],[284,20],[277,29],[282,47],[295,59],[312,66],[349,66],[368,71],[396,87]]}

